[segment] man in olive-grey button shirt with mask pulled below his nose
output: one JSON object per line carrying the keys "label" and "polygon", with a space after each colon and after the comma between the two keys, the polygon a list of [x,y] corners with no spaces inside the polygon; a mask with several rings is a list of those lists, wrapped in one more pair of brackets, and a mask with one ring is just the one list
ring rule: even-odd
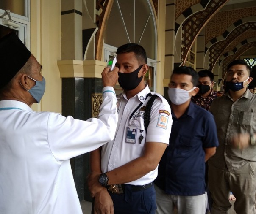
{"label": "man in olive-grey button shirt with mask pulled below his nose", "polygon": [[228,92],[211,104],[220,142],[208,161],[211,214],[228,213],[230,190],[237,214],[256,213],[256,95],[247,89],[250,70],[244,60],[231,62],[224,78]]}

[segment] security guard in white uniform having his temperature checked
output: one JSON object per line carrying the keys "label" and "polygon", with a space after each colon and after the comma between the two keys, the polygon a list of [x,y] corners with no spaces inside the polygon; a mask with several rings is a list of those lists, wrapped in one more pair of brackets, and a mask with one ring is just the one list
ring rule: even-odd
{"label": "security guard in white uniform having his temperature checked", "polygon": [[[114,140],[90,153],[92,173],[88,184],[94,197],[92,213],[154,214],[153,180],[169,144],[170,106],[145,84],[148,65],[142,46],[135,43],[120,46],[116,66],[124,92],[117,96],[119,120]],[[153,105],[151,95],[157,95]],[[149,121],[148,127],[145,121]]]}

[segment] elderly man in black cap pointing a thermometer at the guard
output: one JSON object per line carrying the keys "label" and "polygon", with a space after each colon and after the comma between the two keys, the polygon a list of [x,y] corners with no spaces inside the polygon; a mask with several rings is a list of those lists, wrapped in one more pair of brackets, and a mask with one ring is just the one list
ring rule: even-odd
{"label": "elderly man in black cap pointing a thermometer at the guard", "polygon": [[115,68],[105,68],[98,118],[35,112],[45,92],[42,66],[17,35],[0,39],[0,213],[82,214],[69,159],[114,138]]}

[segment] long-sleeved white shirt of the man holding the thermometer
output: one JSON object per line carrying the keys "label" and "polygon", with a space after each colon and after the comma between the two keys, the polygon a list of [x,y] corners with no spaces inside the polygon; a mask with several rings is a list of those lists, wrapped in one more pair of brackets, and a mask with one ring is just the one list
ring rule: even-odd
{"label": "long-sleeved white shirt of the man holding the thermometer", "polygon": [[0,101],[0,214],[82,214],[69,159],[114,138],[112,87],[100,109],[98,119],[82,121]]}

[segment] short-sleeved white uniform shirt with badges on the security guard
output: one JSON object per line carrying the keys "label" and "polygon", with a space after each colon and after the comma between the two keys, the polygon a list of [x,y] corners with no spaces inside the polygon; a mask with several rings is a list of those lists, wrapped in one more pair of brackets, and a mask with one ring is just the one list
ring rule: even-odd
{"label": "short-sleeved white uniform shirt with badges on the security guard", "polygon": [[[111,171],[117,167],[125,165],[126,163],[141,157],[144,152],[146,142],[161,142],[169,144],[171,133],[172,115],[170,114],[170,106],[161,95],[153,103],[150,113],[150,123],[147,128],[147,135],[144,127],[144,113],[143,106],[146,106],[150,97],[145,100],[150,92],[148,86],[135,95],[133,98],[127,100],[125,93],[118,95],[117,111],[118,111],[118,124],[117,131],[113,141],[109,141],[102,147],[101,151],[101,170],[102,172]],[[142,106],[134,113],[131,114],[139,106]],[[142,109],[141,109],[142,108]],[[136,127],[136,142],[127,143],[128,126]],[[141,132],[142,131],[142,132]],[[139,141],[139,136],[143,135],[143,140]],[[127,184],[145,185],[156,179],[157,168],[150,171],[145,176]]]}

